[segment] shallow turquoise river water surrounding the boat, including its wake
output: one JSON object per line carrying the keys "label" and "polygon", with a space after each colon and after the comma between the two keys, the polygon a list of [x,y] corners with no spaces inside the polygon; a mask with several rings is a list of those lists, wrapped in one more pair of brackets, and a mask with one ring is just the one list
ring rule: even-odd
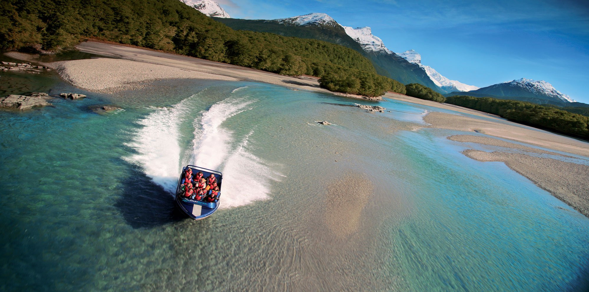
{"label": "shallow turquoise river water surrounding the boat, including its wake", "polygon": [[[44,77],[39,77],[44,78]],[[159,81],[0,112],[3,291],[581,291],[589,219],[425,110],[254,82]],[[366,102],[361,102],[366,103]],[[99,115],[90,105],[124,111]],[[323,126],[315,121],[335,125]],[[492,149],[488,146],[482,150]],[[483,148],[484,147],[484,148]],[[182,165],[223,171],[189,221]],[[366,200],[327,192],[362,177]]]}

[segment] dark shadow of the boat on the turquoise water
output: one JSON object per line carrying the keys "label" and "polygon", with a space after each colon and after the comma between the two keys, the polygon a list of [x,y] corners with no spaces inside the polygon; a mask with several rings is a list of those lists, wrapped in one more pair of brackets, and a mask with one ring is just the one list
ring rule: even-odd
{"label": "dark shadow of the boat on the turquoise water", "polygon": [[131,175],[123,182],[123,195],[114,204],[127,224],[133,228],[150,228],[186,218],[176,208],[173,194],[155,184],[133,165],[130,169]]}

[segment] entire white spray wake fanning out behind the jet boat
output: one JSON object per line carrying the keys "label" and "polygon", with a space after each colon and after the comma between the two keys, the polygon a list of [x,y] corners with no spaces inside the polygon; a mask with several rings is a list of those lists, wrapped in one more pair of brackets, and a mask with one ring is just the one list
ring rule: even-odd
{"label": "entire white spray wake fanning out behind the jet boat", "polygon": [[[170,108],[157,108],[138,121],[140,128],[127,144],[136,154],[125,160],[142,167],[145,175],[170,193],[176,190],[184,165],[219,170],[223,172],[221,208],[268,198],[270,184],[280,180],[282,175],[248,150],[256,126],[245,135],[223,127],[231,117],[253,109],[256,101],[230,97],[206,111],[198,111],[191,106],[194,97],[196,95]],[[188,125],[194,127],[194,138],[190,142],[187,137],[182,139]]]}

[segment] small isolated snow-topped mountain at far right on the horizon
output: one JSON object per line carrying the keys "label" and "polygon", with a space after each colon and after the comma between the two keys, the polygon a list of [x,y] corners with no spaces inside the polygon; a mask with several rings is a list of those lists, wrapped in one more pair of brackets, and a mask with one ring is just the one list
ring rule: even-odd
{"label": "small isolated snow-topped mountain at far right on the horizon", "polygon": [[[465,94],[465,92],[452,92],[451,95],[457,94]],[[550,83],[544,80],[536,81],[527,78],[494,84],[466,92],[466,94],[473,97],[515,99],[537,104],[572,105],[576,103],[571,97],[562,94]]]}

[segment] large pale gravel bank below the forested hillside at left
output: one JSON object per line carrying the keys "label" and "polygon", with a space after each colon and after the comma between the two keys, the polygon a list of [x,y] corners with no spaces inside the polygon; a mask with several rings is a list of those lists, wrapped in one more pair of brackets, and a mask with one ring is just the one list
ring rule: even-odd
{"label": "large pale gravel bank below the forested hillside at left", "polygon": [[[283,76],[221,62],[103,42],[82,42],[76,48],[81,52],[117,58],[55,62],[62,77],[75,86],[88,91],[105,92],[113,88],[131,89],[130,86],[145,86],[147,82],[155,79],[195,78],[258,81],[289,88],[330,92],[320,88],[317,78],[313,77]],[[147,72],[148,70],[153,71]],[[109,78],[110,80],[97,81],[98,78]]]}

